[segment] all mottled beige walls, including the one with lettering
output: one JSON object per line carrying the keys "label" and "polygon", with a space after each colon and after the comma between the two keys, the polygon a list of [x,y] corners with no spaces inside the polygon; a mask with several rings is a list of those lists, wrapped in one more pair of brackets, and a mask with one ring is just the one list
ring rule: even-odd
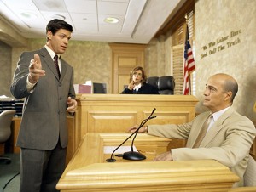
{"label": "all mottled beige walls, including the one with lettering", "polygon": [[[208,76],[218,72],[228,73],[236,77],[240,86],[234,106],[253,121],[256,121],[256,114],[253,113],[256,99],[255,7],[254,0],[198,0],[195,3],[196,97],[202,99]],[[238,34],[230,37],[231,31],[238,31]],[[218,40],[217,44],[217,39],[222,37],[227,38],[223,42]],[[145,50],[145,70],[148,76],[172,75],[171,39],[170,34],[167,34],[148,43]],[[236,45],[227,47],[227,42],[235,41],[238,42]],[[20,52],[42,48],[44,42],[45,39],[32,39],[28,40],[26,48],[14,46],[10,76]],[[210,47],[210,42],[215,42],[215,45]],[[219,46],[225,48],[220,50]],[[216,53],[213,53],[214,48],[217,48]],[[202,54],[207,56],[202,58]],[[112,65],[108,42],[71,41],[62,56],[74,67],[74,83],[84,83],[85,80],[107,82],[108,93],[111,93]],[[0,80],[3,86],[8,86],[2,76]],[[203,110],[206,109],[199,103],[196,112]]]}

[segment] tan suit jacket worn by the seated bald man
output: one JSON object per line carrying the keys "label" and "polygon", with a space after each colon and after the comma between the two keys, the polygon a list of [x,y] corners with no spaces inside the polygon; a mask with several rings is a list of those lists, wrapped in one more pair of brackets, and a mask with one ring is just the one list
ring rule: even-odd
{"label": "tan suit jacket worn by the seated bald man", "polygon": [[172,149],[173,161],[213,159],[230,167],[240,178],[234,186],[243,185],[243,174],[247,167],[248,155],[255,138],[253,122],[238,114],[231,106],[214,122],[200,148],[191,149],[201,131],[202,124],[209,112],[196,116],[189,123],[182,125],[148,126],[148,134],[165,138],[188,139],[185,148]]}

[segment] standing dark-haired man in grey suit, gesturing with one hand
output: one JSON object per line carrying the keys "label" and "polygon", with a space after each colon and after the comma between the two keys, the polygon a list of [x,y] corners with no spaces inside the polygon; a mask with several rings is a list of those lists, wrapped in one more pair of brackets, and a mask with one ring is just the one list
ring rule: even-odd
{"label": "standing dark-haired man in grey suit, gesturing with one hand", "polygon": [[[25,98],[17,146],[20,146],[20,192],[57,191],[67,154],[67,112],[76,110],[73,67],[61,59],[73,27],[51,20],[44,48],[20,55],[11,93]],[[54,57],[58,55],[58,69]]]}

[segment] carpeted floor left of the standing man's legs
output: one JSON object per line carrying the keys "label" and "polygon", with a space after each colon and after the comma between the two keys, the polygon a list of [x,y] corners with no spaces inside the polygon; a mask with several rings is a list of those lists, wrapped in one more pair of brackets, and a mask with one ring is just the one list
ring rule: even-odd
{"label": "carpeted floor left of the standing man's legs", "polygon": [[[11,163],[4,164],[0,162],[0,191],[18,192],[20,189],[20,154],[5,155],[11,158]],[[5,189],[3,189],[5,185]]]}

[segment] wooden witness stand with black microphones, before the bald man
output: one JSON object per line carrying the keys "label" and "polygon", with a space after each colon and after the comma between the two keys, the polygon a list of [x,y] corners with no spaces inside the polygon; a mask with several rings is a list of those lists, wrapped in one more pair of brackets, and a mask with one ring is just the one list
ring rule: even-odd
{"label": "wooden witness stand with black microphones, before the bald man", "polygon": [[[118,146],[129,133],[87,133],[67,165],[56,188],[62,192],[113,191],[229,191],[239,178],[213,160],[159,161],[155,155],[171,141],[145,133],[137,134],[135,146],[147,156],[143,161],[122,157],[107,162],[105,146]],[[131,139],[125,143],[131,146]]]}

